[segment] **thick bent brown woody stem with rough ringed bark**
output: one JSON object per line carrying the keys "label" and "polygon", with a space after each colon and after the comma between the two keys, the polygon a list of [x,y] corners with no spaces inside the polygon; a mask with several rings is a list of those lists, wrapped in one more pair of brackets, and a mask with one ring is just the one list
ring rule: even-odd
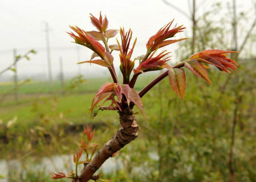
{"label": "thick bent brown woody stem with rough ringed bark", "polygon": [[91,160],[89,164],[84,166],[84,169],[79,175],[79,182],[87,182],[99,167],[109,158],[113,153],[116,153],[126,144],[136,139],[138,136],[139,126],[136,118],[133,115],[133,109],[127,107],[125,110],[119,111],[120,128],[115,136],[104,144],[101,150]]}

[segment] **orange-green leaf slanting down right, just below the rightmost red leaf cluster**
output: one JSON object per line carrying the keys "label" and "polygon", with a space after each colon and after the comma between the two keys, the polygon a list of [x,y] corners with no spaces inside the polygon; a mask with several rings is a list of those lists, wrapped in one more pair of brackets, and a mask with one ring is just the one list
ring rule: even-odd
{"label": "orange-green leaf slanting down right, just below the rightmost red leaf cluster", "polygon": [[196,59],[192,59],[187,61],[184,64],[190,71],[192,71],[195,75],[200,76],[204,80],[206,80],[209,84],[212,84],[212,82],[209,79],[207,70],[204,68],[204,66],[197,61]]}

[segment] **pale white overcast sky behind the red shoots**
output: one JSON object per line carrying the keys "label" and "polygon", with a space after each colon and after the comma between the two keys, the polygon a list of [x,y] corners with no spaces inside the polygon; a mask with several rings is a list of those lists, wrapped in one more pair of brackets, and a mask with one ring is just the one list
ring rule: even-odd
{"label": "pale white overcast sky behind the red shoots", "polygon": [[[183,9],[189,14],[189,0],[167,0]],[[227,3],[231,0],[222,0]],[[197,0],[199,14],[211,8],[216,0]],[[249,11],[252,0],[237,0],[239,11]],[[110,29],[133,30],[134,38],[137,37],[134,56],[145,54],[145,43],[158,29],[175,18],[175,23],[184,24],[188,32],[181,33],[178,37],[189,35],[190,21],[166,6],[162,0],[1,0],[0,1],[0,70],[13,61],[12,49],[23,53],[33,48],[37,55],[31,56],[31,61],[22,60],[18,63],[19,75],[44,74],[47,77],[47,54],[45,51],[45,22],[50,28],[50,46],[52,72],[54,76],[59,72],[59,56],[63,57],[65,74],[76,75],[79,61],[88,60],[91,51],[85,47],[70,43],[66,31],[68,25],[77,25],[86,31],[94,30],[90,24],[89,13],[99,16],[99,12],[106,14]],[[247,27],[245,27],[246,29]],[[119,38],[119,36],[118,36]],[[111,40],[111,43],[116,43]],[[62,47],[62,48],[61,48]],[[174,54],[175,45],[168,46]],[[80,52],[80,53],[79,53]],[[118,64],[118,54],[115,53],[115,63]],[[107,72],[106,68],[97,65],[81,65],[85,76]],[[8,72],[5,76],[12,76]]]}

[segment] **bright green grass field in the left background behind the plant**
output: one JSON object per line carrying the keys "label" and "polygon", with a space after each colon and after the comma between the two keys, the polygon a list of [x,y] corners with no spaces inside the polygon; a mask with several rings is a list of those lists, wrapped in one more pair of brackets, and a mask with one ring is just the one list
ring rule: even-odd
{"label": "bright green grass field in the left background behind the plant", "polygon": [[[138,79],[136,90],[141,90],[155,75],[146,75]],[[48,82],[32,81],[19,88],[19,101],[14,100],[12,92],[6,96],[3,103],[0,104],[0,119],[3,123],[17,117],[20,124],[36,123],[40,116],[48,115],[49,117],[61,118],[57,122],[98,122],[109,119],[113,112],[102,112],[95,119],[90,118],[87,110],[90,107],[93,96],[99,87],[109,78],[91,78],[86,83],[78,85],[73,90],[67,90],[65,95],[61,94],[61,84],[57,81],[49,86]],[[67,86],[69,82],[66,81]],[[0,84],[0,93],[3,94],[13,88],[12,84]],[[35,109],[36,107],[36,109]]]}

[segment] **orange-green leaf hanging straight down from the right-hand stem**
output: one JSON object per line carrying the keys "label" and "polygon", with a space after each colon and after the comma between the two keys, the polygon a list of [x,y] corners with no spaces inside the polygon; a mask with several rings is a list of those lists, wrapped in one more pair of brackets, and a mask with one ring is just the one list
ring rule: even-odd
{"label": "orange-green leaf hanging straight down from the right-hand stem", "polygon": [[171,68],[168,71],[170,85],[172,90],[184,98],[186,90],[186,75],[184,69],[181,68]]}

